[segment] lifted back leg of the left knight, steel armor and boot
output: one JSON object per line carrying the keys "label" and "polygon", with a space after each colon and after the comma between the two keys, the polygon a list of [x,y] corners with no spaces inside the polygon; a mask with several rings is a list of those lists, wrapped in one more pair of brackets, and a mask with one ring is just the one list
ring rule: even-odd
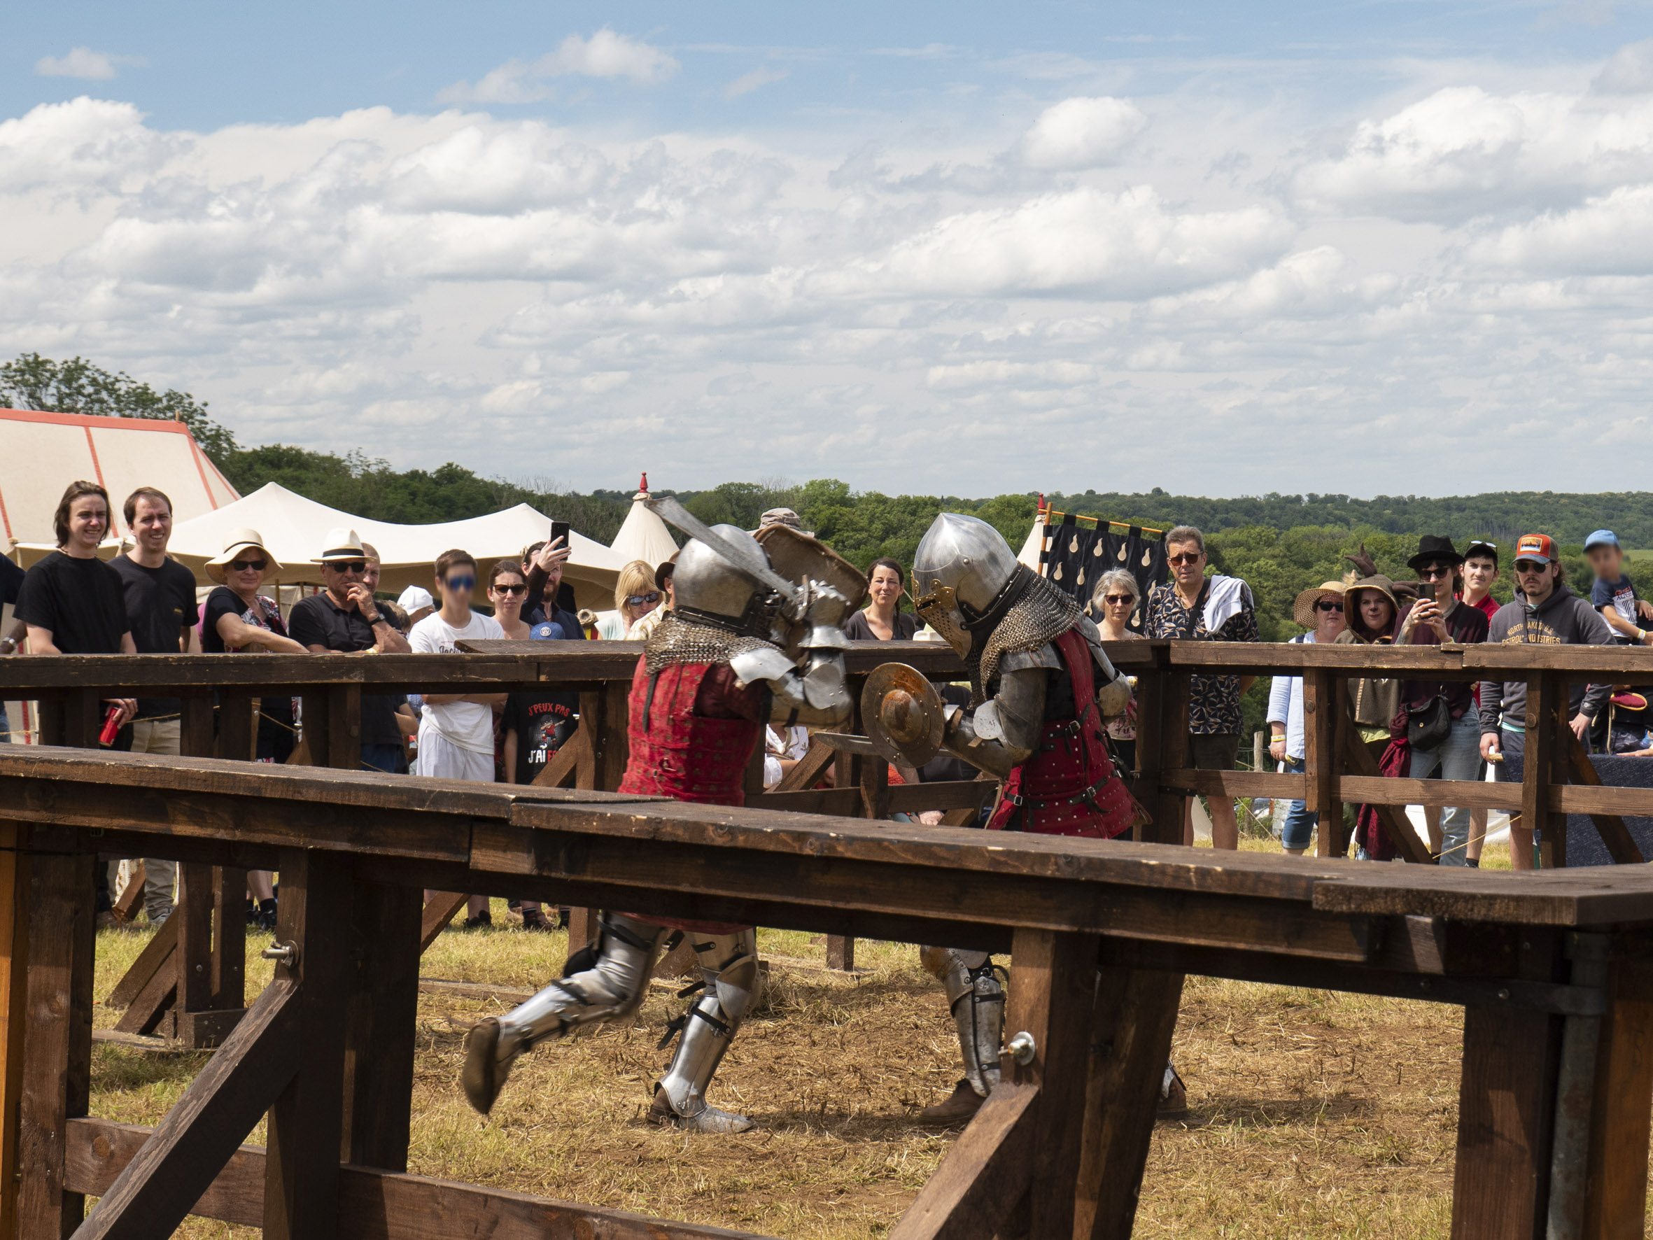
{"label": "lifted back leg of the left knight, steel armor and boot", "polygon": [[[511,1065],[524,1050],[580,1025],[626,1017],[643,1002],[655,952],[666,931],[623,913],[605,913],[595,951],[569,959],[574,972],[559,977],[506,1015],[478,1022],[466,1040],[460,1083],[483,1114],[493,1109]],[[584,957],[584,959],[582,959]]]}

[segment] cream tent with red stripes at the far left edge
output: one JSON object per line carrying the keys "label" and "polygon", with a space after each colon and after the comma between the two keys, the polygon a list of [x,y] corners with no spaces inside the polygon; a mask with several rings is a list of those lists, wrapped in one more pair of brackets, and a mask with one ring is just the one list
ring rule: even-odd
{"label": "cream tent with red stripes at the far left edge", "polygon": [[[172,499],[175,521],[213,513],[240,499],[182,422],[102,418],[86,413],[0,410],[0,532],[23,567],[56,546],[51,514],[63,488],[76,479],[109,491],[112,517],[139,486],[155,486]],[[111,536],[126,532],[111,531]],[[116,537],[107,554],[119,549]]]}

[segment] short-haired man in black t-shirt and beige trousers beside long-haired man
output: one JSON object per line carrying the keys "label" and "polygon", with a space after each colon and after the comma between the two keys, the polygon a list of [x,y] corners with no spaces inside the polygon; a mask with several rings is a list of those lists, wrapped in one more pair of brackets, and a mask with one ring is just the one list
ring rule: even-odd
{"label": "short-haired man in black t-shirt and beige trousers beside long-haired man", "polygon": [[[167,557],[172,539],[172,501],[154,486],[141,486],[122,506],[132,549],[109,567],[121,575],[126,620],[139,655],[187,655],[190,630],[200,618],[195,574]],[[137,716],[122,741],[134,754],[183,752],[183,727],[177,698],[139,698]],[[172,916],[179,866],[159,856],[144,858],[144,913],[159,926]]]}

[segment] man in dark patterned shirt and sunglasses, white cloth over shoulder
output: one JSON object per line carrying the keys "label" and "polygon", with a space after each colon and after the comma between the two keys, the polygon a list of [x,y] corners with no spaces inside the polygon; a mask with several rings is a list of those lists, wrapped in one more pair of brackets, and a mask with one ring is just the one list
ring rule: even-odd
{"label": "man in dark patterned shirt and sunglasses, white cloth over shoulder", "polygon": [[[1147,595],[1147,635],[1192,641],[1256,641],[1251,587],[1238,577],[1205,577],[1205,536],[1193,526],[1165,534],[1170,580]],[[1240,698],[1255,676],[1190,676],[1189,757],[1198,770],[1233,770],[1240,754]],[[1240,847],[1228,797],[1212,797],[1212,845]],[[1182,842],[1193,843],[1193,799],[1182,808]]]}

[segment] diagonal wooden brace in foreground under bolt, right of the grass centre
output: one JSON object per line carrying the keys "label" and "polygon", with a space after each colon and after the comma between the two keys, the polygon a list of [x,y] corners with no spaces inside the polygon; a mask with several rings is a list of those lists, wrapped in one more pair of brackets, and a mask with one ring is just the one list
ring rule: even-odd
{"label": "diagonal wooden brace in foreground under bolt, right of the grass centre", "polygon": [[1031,1085],[995,1088],[889,1240],[992,1240],[1033,1177],[1036,1099]]}

